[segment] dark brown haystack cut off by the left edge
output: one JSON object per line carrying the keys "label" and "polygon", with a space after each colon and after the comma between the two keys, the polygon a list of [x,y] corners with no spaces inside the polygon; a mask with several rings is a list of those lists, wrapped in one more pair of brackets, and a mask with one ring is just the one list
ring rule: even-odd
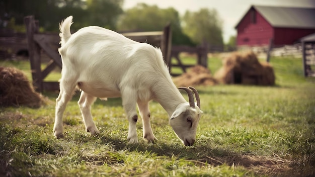
{"label": "dark brown haystack cut off by the left edge", "polygon": [[14,67],[0,67],[0,106],[27,106],[38,108],[44,104],[26,75]]}

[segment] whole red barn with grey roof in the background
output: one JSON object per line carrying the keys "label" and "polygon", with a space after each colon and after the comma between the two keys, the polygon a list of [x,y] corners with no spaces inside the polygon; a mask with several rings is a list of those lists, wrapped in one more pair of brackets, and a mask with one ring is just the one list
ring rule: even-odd
{"label": "whole red barn with grey roof in the background", "polygon": [[293,44],[315,33],[315,9],[252,6],[235,29],[238,47]]}

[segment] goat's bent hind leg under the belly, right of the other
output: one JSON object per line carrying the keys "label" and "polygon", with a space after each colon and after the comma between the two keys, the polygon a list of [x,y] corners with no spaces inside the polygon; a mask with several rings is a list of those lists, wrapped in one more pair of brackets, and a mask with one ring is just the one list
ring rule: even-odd
{"label": "goat's bent hind leg under the belly, right of the other", "polygon": [[91,135],[100,134],[99,129],[96,127],[93,122],[92,114],[91,114],[91,106],[96,101],[96,97],[93,97],[85,92],[81,92],[80,100],[77,104],[80,106],[80,110],[82,113],[83,121],[86,125],[86,131],[90,132]]}

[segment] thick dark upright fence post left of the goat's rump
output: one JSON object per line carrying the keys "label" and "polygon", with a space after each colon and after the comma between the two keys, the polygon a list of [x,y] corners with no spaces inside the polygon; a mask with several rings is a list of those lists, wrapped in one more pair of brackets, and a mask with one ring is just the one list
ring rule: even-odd
{"label": "thick dark upright fence post left of the goat's rump", "polygon": [[43,82],[42,82],[42,73],[41,73],[41,59],[40,59],[40,47],[34,41],[34,34],[38,33],[38,21],[36,22],[34,16],[27,16],[24,18],[24,23],[26,26],[27,33],[27,43],[29,49],[30,63],[31,63],[31,72],[33,85],[35,86],[36,91],[43,91]]}

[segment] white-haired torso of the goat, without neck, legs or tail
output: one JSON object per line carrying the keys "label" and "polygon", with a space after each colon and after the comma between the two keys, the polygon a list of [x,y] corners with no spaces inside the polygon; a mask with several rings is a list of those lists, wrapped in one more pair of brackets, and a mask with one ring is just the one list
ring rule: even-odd
{"label": "white-haired torso of the goat, without neck, legs or tail", "polygon": [[78,30],[61,45],[59,53],[63,72],[71,70],[79,82],[103,88],[125,84],[141,87],[152,84],[153,79],[171,79],[160,49],[101,27]]}

